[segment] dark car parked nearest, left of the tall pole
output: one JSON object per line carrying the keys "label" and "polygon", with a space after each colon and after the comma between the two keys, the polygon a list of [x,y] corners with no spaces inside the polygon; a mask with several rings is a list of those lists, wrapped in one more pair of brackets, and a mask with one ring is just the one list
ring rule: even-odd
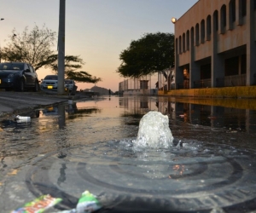
{"label": "dark car parked nearest, left of the tall pole", "polygon": [[32,65],[24,62],[0,63],[0,89],[10,90],[32,88],[38,91],[38,74]]}

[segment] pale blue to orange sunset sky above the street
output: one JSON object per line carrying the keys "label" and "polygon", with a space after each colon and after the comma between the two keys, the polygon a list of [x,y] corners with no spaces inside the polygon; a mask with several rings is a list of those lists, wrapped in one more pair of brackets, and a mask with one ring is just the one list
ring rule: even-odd
{"label": "pale blue to orange sunset sky above the street", "polygon": [[[197,0],[66,0],[65,54],[79,55],[84,66],[78,71],[102,78],[96,86],[118,91],[120,53],[145,33],[174,33],[172,17],[181,17]],[[0,0],[0,46],[9,42],[12,30],[32,30],[44,25],[59,27],[60,0]],[[53,50],[57,51],[57,39]],[[57,52],[56,52],[57,53]],[[42,79],[50,70],[37,71]],[[90,89],[94,83],[77,83]]]}

